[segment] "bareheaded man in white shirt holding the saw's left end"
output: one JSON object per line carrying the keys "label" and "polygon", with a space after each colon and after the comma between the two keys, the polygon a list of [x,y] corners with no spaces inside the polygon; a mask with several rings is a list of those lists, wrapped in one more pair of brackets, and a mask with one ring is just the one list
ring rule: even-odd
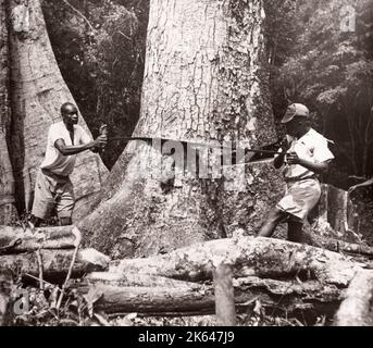
{"label": "bareheaded man in white shirt holding the saw's left end", "polygon": [[29,225],[37,227],[50,217],[53,209],[61,225],[72,223],[75,204],[70,175],[75,165],[76,154],[86,150],[98,152],[107,145],[105,129],[92,140],[78,123],[77,109],[65,102],[61,107],[62,122],[52,124],[48,132],[46,157],[35,183],[34,203]]}

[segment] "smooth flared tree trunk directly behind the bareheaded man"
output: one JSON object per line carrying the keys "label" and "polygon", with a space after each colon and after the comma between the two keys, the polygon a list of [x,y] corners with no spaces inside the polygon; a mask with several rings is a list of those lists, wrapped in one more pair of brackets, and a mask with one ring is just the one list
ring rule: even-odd
{"label": "smooth flared tree trunk directly behind the bareheaded man", "polygon": [[[7,3],[12,86],[10,157],[16,182],[16,203],[23,211],[32,208],[36,172],[45,154],[48,128],[61,120],[61,104],[74,100],[57,65],[39,0],[10,0]],[[80,124],[89,133],[82,116]],[[105,174],[97,154],[85,152],[78,157],[72,175],[75,220],[90,211]]]}

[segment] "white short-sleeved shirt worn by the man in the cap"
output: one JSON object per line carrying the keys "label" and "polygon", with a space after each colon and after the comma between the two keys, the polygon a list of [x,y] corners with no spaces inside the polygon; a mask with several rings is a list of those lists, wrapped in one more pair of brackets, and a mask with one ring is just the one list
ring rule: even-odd
{"label": "white short-sleeved shirt worn by the man in the cap", "polygon": [[[314,129],[310,129],[299,139],[287,136],[290,144],[288,152],[296,152],[300,159],[312,163],[322,163],[334,159],[327,147],[328,140]],[[287,164],[283,166],[283,174],[286,179],[302,179],[314,175],[314,172],[300,164]]]}

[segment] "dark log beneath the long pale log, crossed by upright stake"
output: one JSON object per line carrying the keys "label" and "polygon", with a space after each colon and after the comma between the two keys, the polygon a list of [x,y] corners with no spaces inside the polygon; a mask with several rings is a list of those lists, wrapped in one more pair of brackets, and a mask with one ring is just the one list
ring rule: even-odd
{"label": "dark log beneath the long pale log, crossed by upright stake", "polygon": [[[139,313],[142,315],[203,315],[215,313],[212,284],[175,286],[122,286],[119,281],[84,279],[72,283],[70,289],[84,296],[95,311],[107,314]],[[160,281],[162,282],[162,281]],[[340,289],[318,281],[274,281],[258,277],[234,279],[234,299],[237,312],[247,312],[260,303],[266,313],[297,313],[312,316],[333,315],[340,304]]]}

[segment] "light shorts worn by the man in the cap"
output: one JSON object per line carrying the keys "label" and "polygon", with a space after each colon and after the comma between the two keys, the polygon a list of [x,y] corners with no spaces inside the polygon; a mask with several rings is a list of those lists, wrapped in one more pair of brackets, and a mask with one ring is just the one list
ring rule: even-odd
{"label": "light shorts worn by the man in the cap", "polygon": [[321,196],[320,183],[315,178],[308,178],[286,184],[285,197],[276,208],[290,214],[290,220],[304,221],[318,203]]}

